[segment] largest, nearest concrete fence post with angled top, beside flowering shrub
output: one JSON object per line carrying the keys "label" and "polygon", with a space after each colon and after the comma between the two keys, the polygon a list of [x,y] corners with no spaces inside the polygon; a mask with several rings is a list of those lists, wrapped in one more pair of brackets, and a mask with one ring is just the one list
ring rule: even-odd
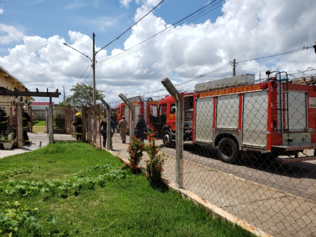
{"label": "largest, nearest concrete fence post with angled top, beside flowering shrub", "polygon": [[175,148],[176,187],[183,188],[183,97],[166,77],[161,82],[176,102]]}

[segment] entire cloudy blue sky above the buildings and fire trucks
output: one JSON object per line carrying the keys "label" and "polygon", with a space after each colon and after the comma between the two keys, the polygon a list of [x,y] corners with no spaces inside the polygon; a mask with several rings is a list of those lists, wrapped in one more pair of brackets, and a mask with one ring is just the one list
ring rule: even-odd
{"label": "entire cloudy blue sky above the buildings and fire trucks", "polygon": [[120,93],[167,95],[165,77],[179,91],[229,77],[233,59],[236,74],[256,78],[315,75],[313,50],[267,57],[313,45],[315,13],[314,0],[0,0],[0,66],[30,91],[58,89],[59,103],[76,83],[92,84],[94,33],[95,84],[111,106]]}

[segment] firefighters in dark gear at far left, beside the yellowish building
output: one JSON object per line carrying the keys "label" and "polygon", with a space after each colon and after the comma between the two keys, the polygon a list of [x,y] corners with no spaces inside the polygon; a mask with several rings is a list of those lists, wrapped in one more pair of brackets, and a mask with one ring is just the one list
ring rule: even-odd
{"label": "firefighters in dark gear at far left, beside the yellowish building", "polygon": [[[0,106],[0,136],[3,134],[5,139],[8,139],[8,114],[3,106]],[[28,107],[23,106],[23,142],[24,145],[31,145],[29,136],[28,136],[28,126],[31,123],[31,117],[28,114]],[[13,129],[11,139],[16,139],[16,126]]]}

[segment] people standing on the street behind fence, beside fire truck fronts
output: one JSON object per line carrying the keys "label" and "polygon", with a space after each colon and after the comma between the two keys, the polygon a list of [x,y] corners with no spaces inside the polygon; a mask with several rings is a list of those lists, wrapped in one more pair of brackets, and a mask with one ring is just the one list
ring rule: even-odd
{"label": "people standing on the street behind fence, beside fire truck fronts", "polygon": [[[115,124],[111,118],[111,149],[112,149],[112,137],[113,134],[115,133]],[[128,122],[125,119],[125,116],[122,116],[122,119],[119,121],[118,126],[120,128],[120,136],[121,136],[121,140],[122,143],[126,143],[126,131],[127,131],[127,125]],[[104,118],[102,119],[101,123],[100,123],[100,133],[103,137],[103,147],[106,147],[106,143],[107,143],[107,129],[108,129],[108,119]],[[135,127],[135,137],[138,139],[141,139],[142,142],[144,142],[144,139],[146,138],[146,122],[144,120],[144,117],[142,114],[138,115],[138,120],[136,123],[136,127]]]}

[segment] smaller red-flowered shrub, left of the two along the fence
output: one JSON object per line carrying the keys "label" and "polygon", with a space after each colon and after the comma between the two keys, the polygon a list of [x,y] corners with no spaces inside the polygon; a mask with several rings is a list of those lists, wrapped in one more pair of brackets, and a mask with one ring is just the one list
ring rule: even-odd
{"label": "smaller red-flowered shrub, left of the two along the fence", "polygon": [[132,173],[137,172],[137,166],[142,159],[143,151],[145,149],[145,143],[135,136],[131,137],[132,141],[129,143],[127,152],[129,153],[129,163],[125,163],[125,166],[130,168]]}

